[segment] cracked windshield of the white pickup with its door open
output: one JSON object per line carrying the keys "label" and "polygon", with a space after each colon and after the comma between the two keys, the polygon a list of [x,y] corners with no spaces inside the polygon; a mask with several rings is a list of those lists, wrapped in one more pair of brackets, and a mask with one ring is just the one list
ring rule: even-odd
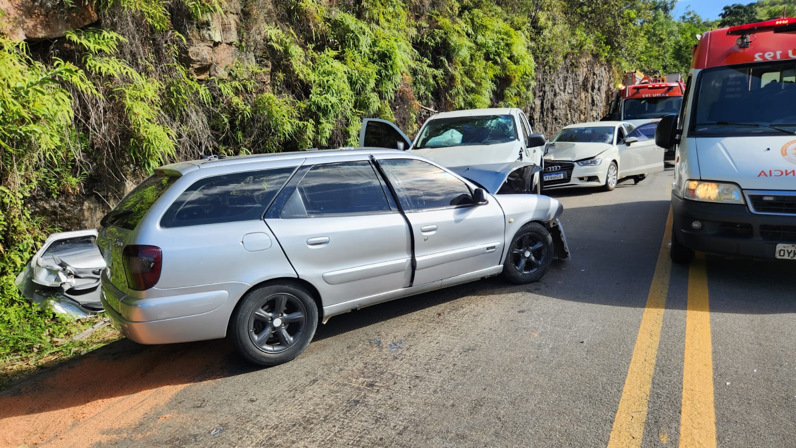
{"label": "cracked windshield of the white pickup with its door open", "polygon": [[517,140],[510,115],[456,116],[429,121],[420,131],[416,148],[507,143]]}

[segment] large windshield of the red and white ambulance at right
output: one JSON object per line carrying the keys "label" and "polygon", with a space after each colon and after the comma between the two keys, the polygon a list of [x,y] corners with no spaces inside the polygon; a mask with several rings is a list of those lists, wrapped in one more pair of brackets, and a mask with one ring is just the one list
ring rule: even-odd
{"label": "large windshield of the red and white ambulance at right", "polygon": [[796,62],[705,69],[696,80],[694,135],[796,132]]}

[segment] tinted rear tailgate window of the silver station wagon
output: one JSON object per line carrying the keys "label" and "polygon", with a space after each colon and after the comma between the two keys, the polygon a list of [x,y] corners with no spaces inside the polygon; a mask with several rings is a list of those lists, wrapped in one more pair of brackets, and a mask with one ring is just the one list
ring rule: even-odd
{"label": "tinted rear tailgate window of the silver station wagon", "polygon": [[138,225],[144,214],[149,211],[152,204],[169,189],[172,183],[179,179],[179,175],[155,173],[143,180],[121,202],[102,218],[100,226],[119,226],[123,229],[133,230]]}

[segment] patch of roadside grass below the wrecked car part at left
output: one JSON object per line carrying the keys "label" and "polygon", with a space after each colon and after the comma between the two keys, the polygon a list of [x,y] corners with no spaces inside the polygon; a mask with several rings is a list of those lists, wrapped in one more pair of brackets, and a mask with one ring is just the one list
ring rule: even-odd
{"label": "patch of roadside grass below the wrecked car part at left", "polygon": [[83,356],[119,340],[122,337],[119,331],[112,325],[103,325],[105,323],[107,317],[103,314],[81,320],[53,315],[45,321],[44,330],[33,335],[36,344],[14,344],[14,337],[0,335],[0,350],[3,353],[0,357],[0,391],[14,379]]}

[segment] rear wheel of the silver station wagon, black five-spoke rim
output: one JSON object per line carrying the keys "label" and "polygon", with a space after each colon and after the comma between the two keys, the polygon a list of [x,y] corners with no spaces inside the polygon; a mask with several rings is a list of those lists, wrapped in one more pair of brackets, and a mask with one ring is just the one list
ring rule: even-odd
{"label": "rear wheel of the silver station wagon, black five-spoke rim", "polygon": [[293,360],[310,344],[318,327],[318,307],[299,285],[264,285],[244,295],[229,327],[244,360],[275,366]]}

